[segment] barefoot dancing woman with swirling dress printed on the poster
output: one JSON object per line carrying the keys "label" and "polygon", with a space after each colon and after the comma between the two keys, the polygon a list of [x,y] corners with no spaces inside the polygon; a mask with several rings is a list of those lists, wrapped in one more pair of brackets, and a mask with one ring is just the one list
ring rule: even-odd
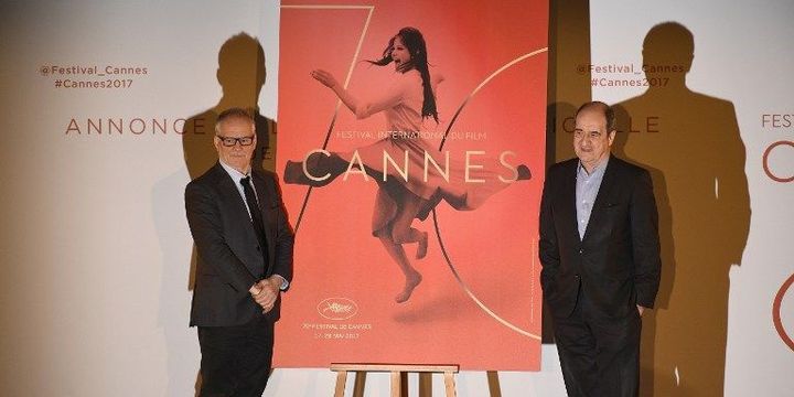
{"label": "barefoot dancing woman with swirling dress printed on the poster", "polygon": [[[373,235],[405,275],[405,286],[395,297],[401,303],[422,280],[421,273],[411,266],[404,245],[417,244],[417,260],[422,259],[428,249],[428,233],[412,227],[414,219],[427,218],[441,200],[457,210],[474,210],[509,183],[528,179],[529,172],[526,167],[512,167],[504,159],[501,163],[487,160],[493,164],[464,165],[449,159],[448,153],[444,155],[421,137],[423,119],[432,118],[438,124],[434,92],[442,78],[430,75],[427,45],[419,30],[401,29],[389,40],[380,60],[367,62],[378,66],[395,65],[390,84],[384,87],[379,97],[371,100],[356,98],[325,71],[313,71],[311,76],[331,88],[356,118],[384,112],[388,137],[353,152],[314,153],[305,163],[288,161],[285,182],[322,186],[354,167],[378,182]],[[386,158],[397,162],[408,160],[400,169],[388,167]],[[428,165],[430,163],[437,165]],[[500,168],[502,172],[497,173]]]}

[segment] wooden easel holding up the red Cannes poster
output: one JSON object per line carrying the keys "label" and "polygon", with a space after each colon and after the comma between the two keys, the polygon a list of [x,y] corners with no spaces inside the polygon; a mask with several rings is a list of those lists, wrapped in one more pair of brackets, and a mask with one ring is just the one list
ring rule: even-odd
{"label": "wooden easel holding up the red Cannes poster", "polygon": [[458,373],[458,365],[405,365],[405,364],[331,364],[331,371],[336,373],[336,389],[334,397],[344,397],[348,372],[391,373],[391,397],[403,396],[404,373],[443,373],[447,397],[455,397],[453,374]]}

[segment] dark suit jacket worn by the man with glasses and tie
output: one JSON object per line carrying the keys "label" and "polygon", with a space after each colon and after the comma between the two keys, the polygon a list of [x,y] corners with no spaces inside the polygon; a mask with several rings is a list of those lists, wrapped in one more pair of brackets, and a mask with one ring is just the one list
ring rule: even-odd
{"label": "dark suit jacket worn by the man with glasses and tie", "polygon": [[[235,181],[216,163],[185,189],[185,210],[198,251],[191,325],[229,326],[262,315],[248,290],[273,273],[292,280],[294,240],[276,176],[253,172],[265,223],[265,266],[259,242]],[[266,315],[280,314],[280,300]]]}

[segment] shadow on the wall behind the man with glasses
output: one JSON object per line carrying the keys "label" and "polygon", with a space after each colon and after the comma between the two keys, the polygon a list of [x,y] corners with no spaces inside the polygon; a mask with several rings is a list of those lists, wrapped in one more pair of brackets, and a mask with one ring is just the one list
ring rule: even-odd
{"label": "shadow on the wall behind the man with glasses", "polygon": [[[248,109],[256,122],[257,148],[254,152],[255,170],[273,171],[276,167],[276,121],[259,114],[259,94],[265,85],[267,71],[265,51],[261,44],[248,34],[239,33],[228,39],[218,51],[217,82],[223,96],[217,105],[186,119],[182,135],[184,161],[191,180],[201,176],[217,162],[217,152],[213,144],[217,115],[232,107]],[[185,280],[189,290],[193,290],[196,269],[196,250],[193,247],[190,262],[190,279]],[[197,347],[197,340],[193,341]],[[173,354],[173,353],[172,353]],[[175,358],[169,358],[169,372],[178,368]],[[196,393],[201,376],[196,380]],[[169,389],[172,389],[169,386]]]}

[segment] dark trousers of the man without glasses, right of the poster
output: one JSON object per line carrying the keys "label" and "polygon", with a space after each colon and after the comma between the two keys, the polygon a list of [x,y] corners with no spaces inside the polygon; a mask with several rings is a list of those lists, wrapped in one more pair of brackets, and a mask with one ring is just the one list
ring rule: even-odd
{"label": "dark trousers of the man without glasses, right of the poster", "polygon": [[635,310],[621,319],[592,314],[579,294],[573,313],[555,316],[554,330],[569,397],[636,397],[640,386],[640,331]]}

